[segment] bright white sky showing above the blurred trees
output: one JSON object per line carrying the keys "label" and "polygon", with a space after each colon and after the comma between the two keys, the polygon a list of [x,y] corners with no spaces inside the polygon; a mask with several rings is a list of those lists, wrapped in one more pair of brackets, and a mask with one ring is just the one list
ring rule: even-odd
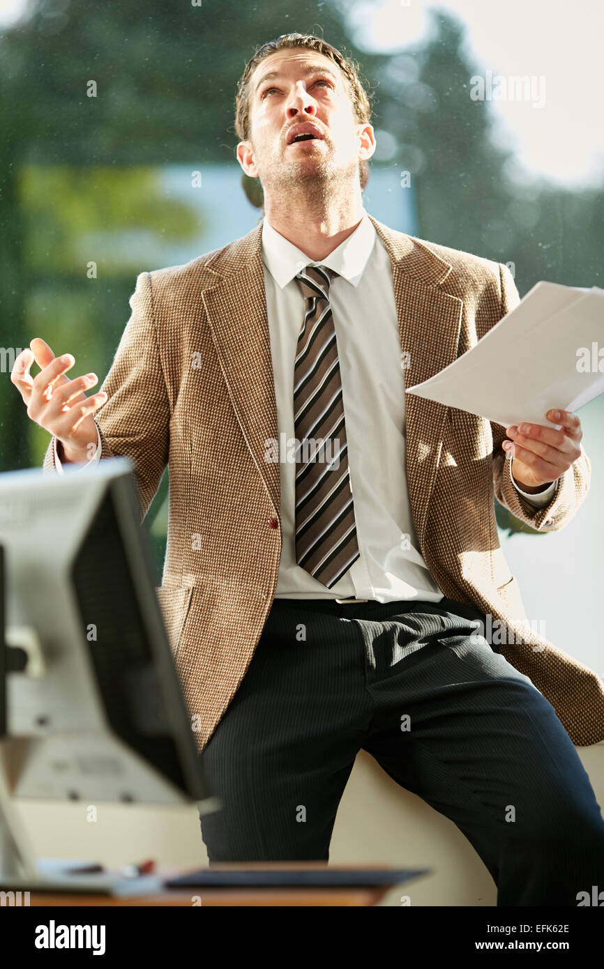
{"label": "bright white sky showing above the blurred trees", "polygon": [[[0,27],[12,23],[25,6],[26,0],[0,0]],[[69,14],[67,4],[56,6],[67,7]],[[317,4],[317,22],[321,6]],[[492,71],[506,78],[535,78],[533,100],[542,100],[545,94],[543,108],[533,108],[530,100],[492,102],[500,120],[498,138],[516,151],[521,165],[569,185],[601,184],[604,3],[347,0],[345,4],[358,46],[393,52],[426,37],[431,7],[449,10],[465,21],[471,61],[478,65],[479,74]]]}

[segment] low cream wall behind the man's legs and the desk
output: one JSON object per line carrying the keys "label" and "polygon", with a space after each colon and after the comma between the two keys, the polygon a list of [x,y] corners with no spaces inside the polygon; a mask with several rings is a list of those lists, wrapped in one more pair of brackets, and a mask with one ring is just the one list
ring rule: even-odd
{"label": "low cream wall behind the man's legs and the desk", "polygon": [[[598,803],[604,803],[604,743],[578,750]],[[153,858],[162,865],[207,865],[195,808],[100,805],[86,822],[85,805],[21,802],[19,815],[40,857],[90,858],[119,865]],[[399,788],[362,751],[340,802],[331,862],[387,863],[434,869],[432,875],[389,891],[382,904],[492,906],[496,891],[467,839],[420,797]]]}

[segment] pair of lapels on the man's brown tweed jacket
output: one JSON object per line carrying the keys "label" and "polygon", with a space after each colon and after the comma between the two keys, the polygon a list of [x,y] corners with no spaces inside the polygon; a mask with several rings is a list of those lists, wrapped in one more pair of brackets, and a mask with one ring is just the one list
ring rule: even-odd
{"label": "pair of lapels on the man's brown tweed jacket", "polygon": [[[407,364],[404,385],[413,387],[456,359],[463,303],[438,289],[451,271],[449,263],[424,243],[369,218],[392,260],[400,347]],[[261,245],[262,224],[219,250],[206,264],[217,282],[202,296],[238,423],[278,514],[279,465],[265,460],[265,442],[278,440],[278,433]],[[407,485],[421,545],[448,410],[405,394]]]}

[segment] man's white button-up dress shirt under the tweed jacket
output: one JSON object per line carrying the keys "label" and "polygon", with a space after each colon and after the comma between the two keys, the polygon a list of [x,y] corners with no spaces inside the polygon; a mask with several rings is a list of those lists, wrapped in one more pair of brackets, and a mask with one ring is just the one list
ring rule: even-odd
{"label": "man's white button-up dress shirt under the tweed jacket", "polygon": [[[405,475],[404,378],[397,307],[388,251],[366,212],[354,233],[320,262],[277,233],[265,217],[262,254],[277,410],[281,482],[281,559],[275,596],[287,599],[418,599],[438,602],[444,593],[418,549]],[[294,431],[294,359],[304,314],[295,276],[304,266],[338,274],[330,305],[342,384],[348,464],[360,557],[328,589],[296,563],[295,472],[287,460]],[[367,322],[370,321],[370,326]],[[267,449],[270,442],[267,442]],[[99,447],[88,464],[100,459]],[[62,471],[56,457],[57,468]],[[511,467],[511,460],[505,464]],[[85,465],[82,465],[85,467]],[[511,472],[509,472],[511,475]],[[517,490],[536,508],[547,505],[556,482],[538,494]]]}

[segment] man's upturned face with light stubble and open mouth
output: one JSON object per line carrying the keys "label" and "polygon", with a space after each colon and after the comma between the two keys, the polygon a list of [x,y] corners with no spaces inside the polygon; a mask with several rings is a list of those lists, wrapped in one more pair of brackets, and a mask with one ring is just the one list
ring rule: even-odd
{"label": "man's upturned face with light stubble and open mouth", "polygon": [[249,81],[250,139],[238,145],[243,171],[267,191],[358,177],[373,153],[373,129],[354,115],[348,83],[329,57],[285,48],[265,57]]}

